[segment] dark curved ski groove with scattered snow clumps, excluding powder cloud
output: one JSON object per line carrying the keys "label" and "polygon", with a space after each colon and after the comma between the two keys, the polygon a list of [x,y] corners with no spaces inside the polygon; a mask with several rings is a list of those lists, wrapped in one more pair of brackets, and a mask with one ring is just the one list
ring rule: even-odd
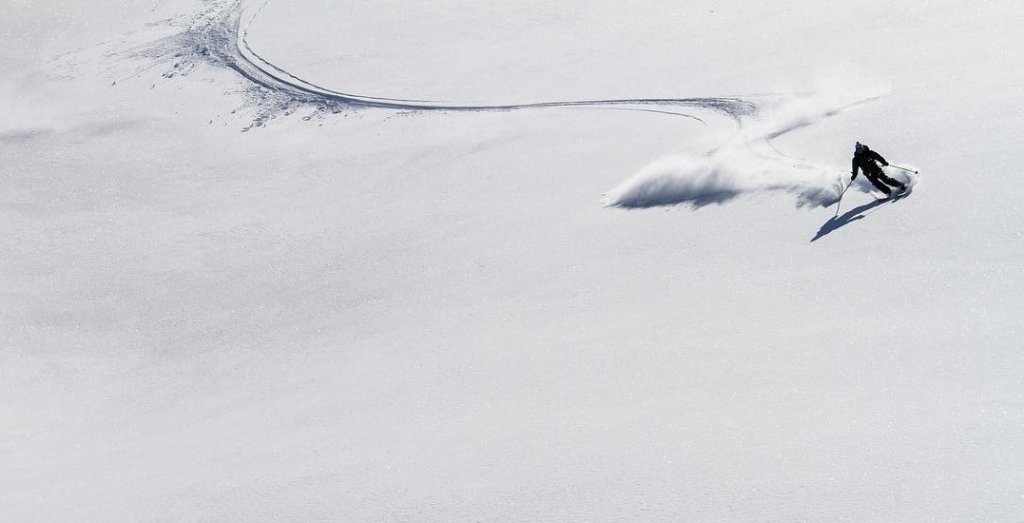
{"label": "dark curved ski groove with scattered snow clumps, excluding powder cloud", "polygon": [[[130,55],[172,60],[170,71],[164,74],[165,78],[187,75],[202,62],[233,71],[255,89],[250,89],[249,100],[258,107],[253,122],[255,127],[260,127],[279,116],[290,115],[304,106],[313,107],[318,114],[337,114],[357,108],[479,113],[558,107],[612,107],[669,114],[701,123],[703,120],[693,115],[669,108],[711,111],[737,123],[745,117],[758,114],[756,103],[737,97],[622,98],[476,105],[346,93],[299,78],[252,48],[247,40],[248,29],[266,5],[267,3],[264,3],[255,13],[247,16],[245,3],[242,0],[208,2],[207,9],[191,19],[184,31],[137,48]],[[244,18],[248,18],[248,23],[243,26]]]}

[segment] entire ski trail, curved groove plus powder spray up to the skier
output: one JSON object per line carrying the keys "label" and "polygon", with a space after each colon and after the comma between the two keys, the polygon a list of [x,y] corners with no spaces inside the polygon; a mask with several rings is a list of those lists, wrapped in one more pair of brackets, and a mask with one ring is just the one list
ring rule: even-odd
{"label": "entire ski trail, curved groove plus powder spray up to the skier", "polygon": [[[689,205],[693,209],[721,205],[745,193],[783,191],[794,194],[798,207],[827,207],[839,198],[842,183],[830,166],[812,165],[782,155],[772,140],[813,125],[823,119],[877,99],[879,96],[845,96],[831,99],[827,93],[793,97],[760,96],[765,107],[739,97],[622,98],[541,101],[508,104],[458,104],[413,98],[358,95],[330,89],[300,78],[249,44],[248,30],[270,0],[254,11],[245,0],[208,0],[206,9],[184,18],[177,34],[129,51],[133,58],[156,63],[171,61],[165,78],[186,76],[201,64],[230,70],[248,82],[246,104],[253,108],[251,124],[243,130],[262,127],[268,121],[297,111],[311,110],[304,120],[354,110],[394,112],[512,112],[582,107],[638,111],[705,120],[686,110],[710,112],[731,119],[737,132],[725,143],[703,155],[663,159],[604,194],[608,207],[642,209]],[[243,20],[248,20],[243,23]],[[167,24],[182,24],[182,18]],[[148,67],[152,67],[148,66]],[[138,73],[138,72],[137,72]],[[134,75],[133,75],[134,76]],[[770,100],[775,98],[773,106]],[[232,112],[233,114],[234,112]],[[753,145],[768,150],[756,152]],[[787,163],[779,160],[786,158]],[[794,169],[793,161],[799,162]]]}

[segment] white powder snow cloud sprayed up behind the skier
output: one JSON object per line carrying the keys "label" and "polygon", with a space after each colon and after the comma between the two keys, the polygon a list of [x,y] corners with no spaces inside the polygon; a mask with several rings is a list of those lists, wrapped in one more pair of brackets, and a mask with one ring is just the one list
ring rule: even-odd
{"label": "white powder snow cloud sprayed up behind the skier", "polygon": [[793,194],[800,208],[830,206],[839,200],[849,167],[783,156],[771,140],[876,98],[824,89],[781,100],[766,106],[761,118],[744,121],[738,132],[710,152],[675,155],[644,167],[606,192],[604,204],[627,209],[677,205],[697,209],[743,194],[778,191]]}

